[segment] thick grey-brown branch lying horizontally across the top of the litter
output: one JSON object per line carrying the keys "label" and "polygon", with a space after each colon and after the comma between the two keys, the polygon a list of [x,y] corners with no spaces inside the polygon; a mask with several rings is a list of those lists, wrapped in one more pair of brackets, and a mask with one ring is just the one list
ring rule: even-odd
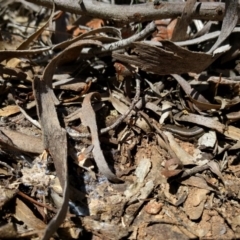
{"label": "thick grey-brown branch lying horizontally across the top of the litter", "polygon": [[[29,2],[36,3],[37,5],[52,8],[52,0],[28,0]],[[144,22],[164,18],[176,18],[181,16],[185,2],[179,3],[166,3],[161,2],[156,8],[154,4],[134,4],[131,6],[126,5],[111,5],[102,2],[83,0],[81,4],[79,1],[65,1],[54,0],[56,8],[81,14],[90,15],[92,17],[111,19],[115,21],[129,22]],[[240,11],[240,10],[238,10]],[[222,21],[225,12],[225,4],[219,2],[196,3],[193,8],[192,19]]]}

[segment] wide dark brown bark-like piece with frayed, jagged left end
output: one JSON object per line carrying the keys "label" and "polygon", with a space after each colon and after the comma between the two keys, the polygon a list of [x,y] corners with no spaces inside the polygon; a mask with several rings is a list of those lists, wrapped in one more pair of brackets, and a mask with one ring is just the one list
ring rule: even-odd
{"label": "wide dark brown bark-like piece with frayed, jagged left end", "polygon": [[136,55],[125,55],[113,52],[117,60],[135,65],[143,71],[156,74],[182,74],[187,72],[199,73],[206,69],[218,56],[192,52],[176,46],[169,41],[161,41],[162,47],[152,46],[143,42],[135,42]]}

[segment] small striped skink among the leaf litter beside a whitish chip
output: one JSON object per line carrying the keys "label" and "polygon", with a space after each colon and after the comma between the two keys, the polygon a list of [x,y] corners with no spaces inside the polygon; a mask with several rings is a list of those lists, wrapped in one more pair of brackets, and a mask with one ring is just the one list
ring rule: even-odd
{"label": "small striped skink among the leaf litter beside a whitish chip", "polygon": [[166,124],[162,126],[162,129],[169,131],[176,137],[179,137],[180,139],[184,139],[184,140],[192,140],[204,134],[204,129],[197,126],[192,128],[184,128],[184,127]]}

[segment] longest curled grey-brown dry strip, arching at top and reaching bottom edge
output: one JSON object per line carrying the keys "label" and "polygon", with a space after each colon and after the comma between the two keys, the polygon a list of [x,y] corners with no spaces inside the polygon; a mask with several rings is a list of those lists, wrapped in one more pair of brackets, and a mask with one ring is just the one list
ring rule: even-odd
{"label": "longest curled grey-brown dry strip, arching at top and reaching bottom edge", "polygon": [[[63,52],[58,54],[47,65],[44,70],[42,79],[34,80],[33,88],[37,103],[38,116],[41,122],[43,131],[44,148],[48,150],[53,158],[57,176],[59,177],[63,188],[63,204],[55,217],[51,220],[44,233],[44,240],[49,239],[57,230],[59,225],[65,219],[68,210],[68,170],[67,170],[67,136],[58,121],[55,105],[59,102],[52,90],[52,77],[58,64],[73,60],[79,55],[80,49],[84,45],[99,44],[92,40],[82,40],[70,44]],[[70,53],[75,52],[73,55]],[[76,54],[77,53],[77,54]]]}

